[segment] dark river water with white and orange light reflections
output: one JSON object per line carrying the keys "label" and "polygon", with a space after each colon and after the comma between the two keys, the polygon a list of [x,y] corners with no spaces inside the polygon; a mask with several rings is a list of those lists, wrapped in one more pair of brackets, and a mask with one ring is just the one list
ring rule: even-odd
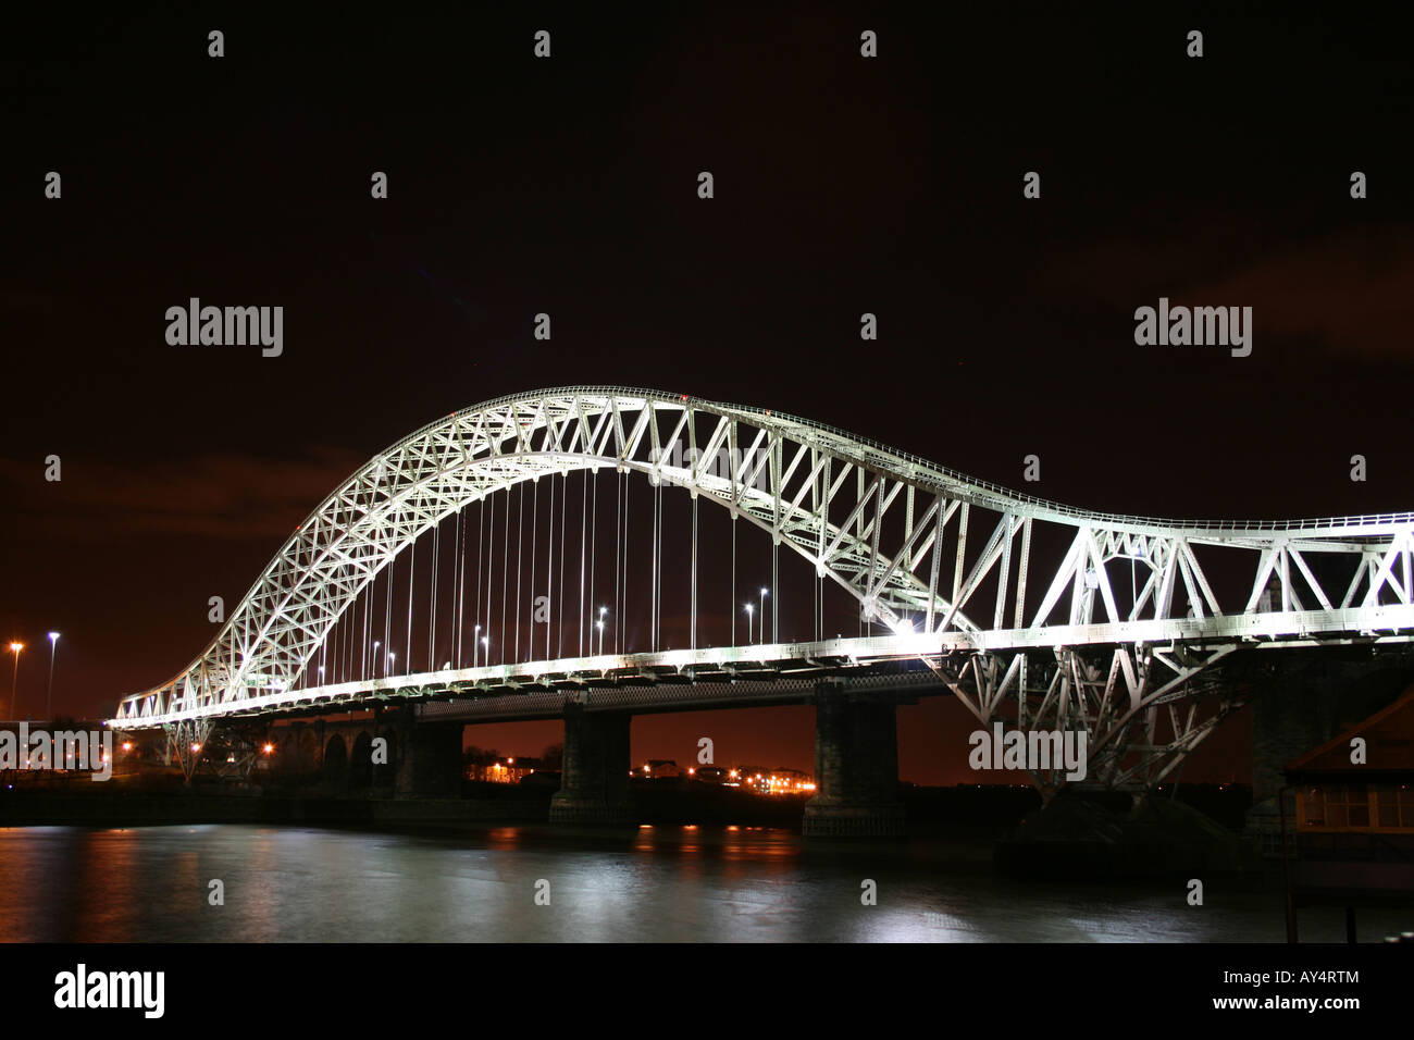
{"label": "dark river water with white and orange light reflections", "polygon": [[[208,884],[225,884],[225,904]],[[550,906],[536,906],[536,882]],[[861,883],[878,886],[863,906]],[[409,836],[246,825],[0,829],[8,941],[909,941],[1284,940],[1280,897],[1182,884],[994,877],[986,849],[806,843],[771,828],[618,832],[493,826]],[[1362,941],[1408,928],[1365,913]],[[1342,941],[1339,908],[1304,941]]]}

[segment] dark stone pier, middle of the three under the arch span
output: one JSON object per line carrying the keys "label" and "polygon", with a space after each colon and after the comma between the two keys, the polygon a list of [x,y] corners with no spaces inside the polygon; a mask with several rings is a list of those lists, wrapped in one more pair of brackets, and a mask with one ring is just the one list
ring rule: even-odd
{"label": "dark stone pier, middle of the three under the arch span", "polygon": [[629,723],[626,712],[587,713],[564,709],[564,765],[560,790],[550,799],[550,822],[632,824],[628,790]]}

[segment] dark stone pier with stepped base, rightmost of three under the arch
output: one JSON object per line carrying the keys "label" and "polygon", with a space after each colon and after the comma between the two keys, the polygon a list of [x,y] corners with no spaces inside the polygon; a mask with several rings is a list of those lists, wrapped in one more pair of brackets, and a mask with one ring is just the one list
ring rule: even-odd
{"label": "dark stone pier with stepped base, rightmost of three under the arch", "polygon": [[806,802],[810,838],[901,838],[898,801],[898,706],[850,700],[822,683],[814,698],[814,778]]}

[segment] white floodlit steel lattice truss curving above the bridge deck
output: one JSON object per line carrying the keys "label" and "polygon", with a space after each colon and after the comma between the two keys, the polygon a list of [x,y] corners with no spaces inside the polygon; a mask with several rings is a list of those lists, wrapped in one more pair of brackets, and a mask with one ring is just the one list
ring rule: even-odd
{"label": "white floodlit steel lattice truss curving above the bridge deck", "polygon": [[[233,702],[290,691],[344,610],[443,518],[525,480],[607,467],[690,488],[744,516],[870,616],[901,632],[925,625],[923,652],[1017,644],[1021,631],[1039,638],[1035,645],[1080,645],[1111,642],[1116,632],[1164,641],[1411,627],[1393,610],[1407,611],[1414,599],[1411,514],[1198,522],[1086,512],[771,410],[571,386],[454,412],[370,458],[297,526],[211,645],[168,682],[124,698],[117,720],[216,716]],[[987,533],[980,552],[969,545],[970,522]],[[1034,533],[1049,528],[1069,531],[1070,549],[1060,560],[1031,559]],[[1246,608],[1220,607],[1199,549],[1226,553],[1253,574]],[[1145,572],[1143,593],[1135,589],[1126,606],[1116,591],[1120,569],[1135,586]],[[988,583],[991,627],[983,628],[967,607]],[[1048,591],[1022,630],[1028,583]],[[1186,600],[1181,617],[1175,593]],[[1299,610],[1307,603],[1321,610]],[[1103,620],[1094,624],[1097,604]],[[1000,630],[1007,618],[1015,627]]]}

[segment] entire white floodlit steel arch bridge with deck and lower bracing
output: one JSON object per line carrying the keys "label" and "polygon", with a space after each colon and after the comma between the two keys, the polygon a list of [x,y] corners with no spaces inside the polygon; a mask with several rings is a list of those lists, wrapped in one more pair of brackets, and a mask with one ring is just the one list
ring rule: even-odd
{"label": "entire white floodlit steel arch bridge with deck and lower bracing", "polygon": [[[699,647],[694,591],[686,649],[430,661],[421,674],[311,683],[334,625],[421,533],[471,502],[575,471],[642,474],[721,507],[888,634],[826,640],[817,624],[805,642]],[[181,747],[221,719],[311,706],[574,699],[624,682],[922,662],[983,724],[1083,729],[1092,775],[1155,784],[1239,706],[1213,682],[1212,666],[1233,652],[1407,642],[1411,542],[1414,514],[1208,522],[1089,512],[768,409],[619,386],[536,391],[452,412],[370,458],[298,525],[211,645],[123,698],[110,724],[164,727]],[[696,548],[693,560],[696,590]]]}

